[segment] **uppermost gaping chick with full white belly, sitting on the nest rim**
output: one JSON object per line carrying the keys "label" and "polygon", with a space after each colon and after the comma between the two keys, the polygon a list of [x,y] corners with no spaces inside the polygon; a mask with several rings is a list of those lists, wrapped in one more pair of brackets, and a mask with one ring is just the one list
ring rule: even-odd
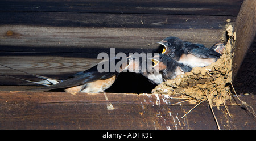
{"label": "uppermost gaping chick with full white belly, sitting on the nest rim", "polygon": [[220,58],[221,54],[213,49],[206,48],[202,44],[184,42],[178,37],[166,37],[158,42],[164,46],[162,54],[165,54],[179,63],[189,67],[204,67]]}

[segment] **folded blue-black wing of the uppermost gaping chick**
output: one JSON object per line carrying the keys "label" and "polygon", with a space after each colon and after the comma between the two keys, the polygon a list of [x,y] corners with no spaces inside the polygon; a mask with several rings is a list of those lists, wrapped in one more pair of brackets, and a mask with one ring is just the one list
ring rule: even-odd
{"label": "folded blue-black wing of the uppermost gaping chick", "polygon": [[200,58],[220,58],[221,54],[213,49],[206,48],[202,44],[190,44],[186,46],[187,52]]}

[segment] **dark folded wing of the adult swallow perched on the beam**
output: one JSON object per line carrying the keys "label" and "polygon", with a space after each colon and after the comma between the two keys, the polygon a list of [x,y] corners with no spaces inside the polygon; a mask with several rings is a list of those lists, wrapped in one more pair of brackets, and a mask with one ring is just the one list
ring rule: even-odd
{"label": "dark folded wing of the adult swallow perched on the beam", "polygon": [[96,80],[108,79],[108,78],[111,78],[112,76],[118,75],[118,74],[119,74],[118,72],[98,72],[97,65],[96,65],[86,71],[82,71],[82,72],[79,72],[79,73],[73,75],[71,78],[64,80],[63,82],[57,83],[52,86],[39,88],[36,90],[48,91],[51,89],[79,86],[79,85],[86,84],[89,82],[94,82]]}

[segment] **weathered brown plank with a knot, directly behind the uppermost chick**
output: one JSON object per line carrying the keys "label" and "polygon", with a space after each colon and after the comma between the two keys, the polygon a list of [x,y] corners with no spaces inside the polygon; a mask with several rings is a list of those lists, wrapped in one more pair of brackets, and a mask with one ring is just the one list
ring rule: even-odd
{"label": "weathered brown plank with a knot, directly behind the uppermost chick", "polygon": [[[88,28],[0,26],[0,51],[100,53],[153,52],[164,37],[200,42],[207,47],[222,41],[222,29]],[[148,50],[148,51],[147,51]]]}

